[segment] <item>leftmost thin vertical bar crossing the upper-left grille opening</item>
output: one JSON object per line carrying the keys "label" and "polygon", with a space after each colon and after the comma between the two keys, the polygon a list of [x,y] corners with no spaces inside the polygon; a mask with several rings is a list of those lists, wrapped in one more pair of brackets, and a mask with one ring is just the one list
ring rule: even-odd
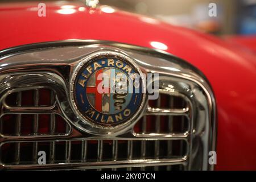
{"label": "leftmost thin vertical bar crossing the upper-left grille opening", "polygon": [[[22,92],[18,92],[17,93],[17,100],[16,100],[16,103],[17,103],[17,106],[20,107],[21,106],[21,102],[22,102]],[[16,135],[17,136],[20,136],[20,125],[21,125],[21,114],[17,114],[16,115]],[[20,162],[20,143],[17,142],[16,143],[16,146],[15,146],[15,163],[16,164],[19,164]]]}

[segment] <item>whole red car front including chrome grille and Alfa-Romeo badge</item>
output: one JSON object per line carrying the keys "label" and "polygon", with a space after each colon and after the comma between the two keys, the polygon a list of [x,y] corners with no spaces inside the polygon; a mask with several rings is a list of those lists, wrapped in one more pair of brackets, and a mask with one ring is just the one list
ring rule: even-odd
{"label": "whole red car front including chrome grille and Alfa-Romeo badge", "polygon": [[256,169],[255,38],[81,2],[0,22],[1,169]]}

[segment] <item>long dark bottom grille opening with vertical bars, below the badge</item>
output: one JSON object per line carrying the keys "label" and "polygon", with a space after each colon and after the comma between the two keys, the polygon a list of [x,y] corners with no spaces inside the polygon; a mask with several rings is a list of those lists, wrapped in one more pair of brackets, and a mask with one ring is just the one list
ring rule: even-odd
{"label": "long dark bottom grille opening with vertical bars, below the badge", "polygon": [[[67,142],[70,148],[67,148]],[[51,163],[75,163],[75,162],[111,162],[113,160],[138,160],[138,159],[155,159],[156,140],[134,140],[133,148],[130,150],[127,140],[67,140],[52,142],[9,142],[1,146],[1,162],[3,164],[34,164],[38,161],[38,156],[34,158],[35,144],[37,145],[36,154],[38,151],[46,152],[46,162]],[[143,154],[142,144],[146,146],[146,152]],[[102,143],[102,146],[99,146]],[[117,143],[117,146],[114,146]],[[173,147],[168,149],[168,143]],[[187,148],[180,151],[180,147],[186,147],[184,140],[160,140],[158,159],[173,159],[181,158],[185,155]],[[17,154],[19,147],[19,154]],[[115,148],[116,147],[116,148]],[[54,148],[51,158],[51,150]],[[102,151],[100,155],[99,150]],[[116,153],[115,150],[118,152]],[[18,158],[17,158],[18,156]]]}

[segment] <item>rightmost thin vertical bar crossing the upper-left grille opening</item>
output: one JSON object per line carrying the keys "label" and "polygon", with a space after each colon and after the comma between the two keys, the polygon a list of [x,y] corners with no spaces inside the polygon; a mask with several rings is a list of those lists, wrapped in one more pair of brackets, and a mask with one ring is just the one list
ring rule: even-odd
{"label": "rightmost thin vertical bar crossing the upper-left grille opening", "polygon": [[[51,90],[51,104],[53,105],[55,102],[55,96],[54,92]],[[56,128],[56,123],[55,123],[55,114],[50,115],[50,132],[51,135],[55,134],[55,128]],[[50,143],[50,155],[49,155],[49,160],[50,163],[54,163],[55,161],[55,142],[51,141]]]}

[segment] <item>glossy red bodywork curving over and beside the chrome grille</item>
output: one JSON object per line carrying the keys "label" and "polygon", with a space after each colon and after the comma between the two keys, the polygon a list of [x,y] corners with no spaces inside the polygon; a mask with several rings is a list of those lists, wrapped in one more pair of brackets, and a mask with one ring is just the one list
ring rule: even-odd
{"label": "glossy red bodywork curving over and beside the chrome grille", "polygon": [[46,17],[39,17],[38,3],[0,4],[0,50],[68,39],[110,40],[148,48],[157,48],[152,42],[162,43],[159,48],[200,69],[212,86],[218,121],[215,169],[256,169],[253,53],[146,16],[117,10],[104,12],[76,2],[46,2]]}

